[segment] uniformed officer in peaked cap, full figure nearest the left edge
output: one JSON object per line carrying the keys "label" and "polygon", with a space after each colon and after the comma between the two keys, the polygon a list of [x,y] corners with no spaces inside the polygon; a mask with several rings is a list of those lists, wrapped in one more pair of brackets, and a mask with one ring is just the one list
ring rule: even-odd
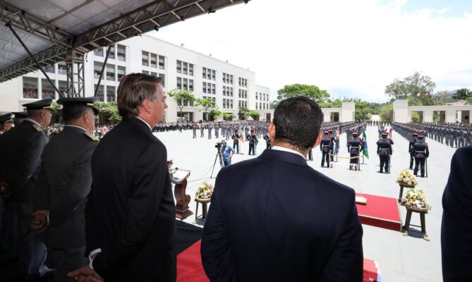
{"label": "uniformed officer in peaked cap, full figure nearest the left edge", "polygon": [[0,171],[4,197],[1,241],[6,243],[7,257],[19,257],[20,274],[25,279],[42,278],[54,274],[44,265],[46,246],[40,236],[30,232],[33,220],[33,193],[37,183],[37,168],[47,144],[43,128],[52,118],[52,99],[23,104],[28,117],[13,130],[1,135]]}

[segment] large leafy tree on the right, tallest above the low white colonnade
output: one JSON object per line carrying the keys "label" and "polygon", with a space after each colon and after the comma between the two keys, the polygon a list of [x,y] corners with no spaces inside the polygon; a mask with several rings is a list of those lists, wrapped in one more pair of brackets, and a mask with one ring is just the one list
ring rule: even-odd
{"label": "large leafy tree on the right, tallest above the low white colonnade", "polygon": [[402,80],[396,78],[385,87],[385,94],[390,97],[391,102],[400,99],[409,101],[420,101],[423,106],[432,105],[432,90],[436,87],[428,75],[413,73]]}

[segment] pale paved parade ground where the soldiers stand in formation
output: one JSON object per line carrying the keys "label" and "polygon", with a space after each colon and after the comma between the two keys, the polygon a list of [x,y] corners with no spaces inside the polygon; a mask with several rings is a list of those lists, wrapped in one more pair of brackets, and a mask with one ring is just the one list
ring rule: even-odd
{"label": "pale paved parade ground where the soldiers stand in formation", "polygon": [[[213,132],[214,133],[214,132]],[[390,174],[378,173],[379,159],[376,154],[378,140],[377,128],[369,126],[366,131],[370,159],[365,159],[361,165],[361,171],[349,171],[349,159],[341,159],[333,163],[333,168],[321,168],[320,148],[313,149],[314,161],[308,161],[308,164],[315,170],[339,181],[356,190],[358,193],[370,195],[379,195],[397,199],[399,195],[399,185],[395,183],[397,174],[401,169],[409,167],[409,141],[397,133],[393,133],[394,153],[392,156],[392,168]],[[207,180],[214,184],[219,171],[219,162],[214,167],[213,178],[210,179],[212,166],[214,164],[217,149],[214,148],[215,142],[221,141],[214,138],[205,137],[192,138],[192,130],[155,133],[155,135],[164,142],[170,157],[174,158],[174,166],[188,169],[191,171],[188,178],[187,194],[190,195],[190,210],[195,213],[195,190],[203,181]],[[200,130],[198,130],[200,136]],[[428,196],[432,209],[426,214],[426,231],[430,241],[423,240],[419,232],[420,216],[413,213],[409,236],[404,236],[400,231],[392,231],[375,226],[363,224],[363,250],[364,257],[377,261],[382,273],[383,281],[442,281],[441,272],[441,250],[440,250],[440,230],[442,217],[442,192],[449,176],[449,166],[456,149],[442,145],[439,142],[427,138],[430,147],[430,158],[428,159],[428,178],[418,177],[418,189],[423,189]],[[232,146],[232,140],[228,141]],[[348,157],[348,151],[345,147],[346,134],[341,135],[341,147],[339,157]],[[265,140],[260,140],[256,153],[260,154],[265,149]],[[244,142],[241,146],[243,154],[235,154],[233,164],[238,161],[244,161],[257,156],[248,156],[248,143]],[[419,173],[418,173],[419,175]],[[234,181],[238,181],[235,179]],[[313,185],[322,185],[322,183],[313,183]],[[257,187],[254,187],[257,189]],[[289,192],[290,187],[287,187]],[[368,203],[369,204],[369,203]],[[294,207],[295,208],[295,207]],[[405,207],[399,207],[401,221],[404,223],[406,218]],[[199,211],[201,214],[201,209]],[[188,223],[195,222],[195,214],[188,217]],[[204,221],[198,220],[196,224],[202,226]],[[415,229],[418,232],[411,231]]]}

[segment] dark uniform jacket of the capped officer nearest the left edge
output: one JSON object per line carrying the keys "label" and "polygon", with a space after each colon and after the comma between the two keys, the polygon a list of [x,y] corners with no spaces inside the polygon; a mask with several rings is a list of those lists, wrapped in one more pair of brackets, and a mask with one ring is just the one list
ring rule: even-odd
{"label": "dark uniform jacket of the capped officer nearest the left edge", "polygon": [[2,178],[13,192],[10,200],[31,203],[37,181],[37,169],[47,137],[35,128],[35,123],[25,120],[1,137],[2,156],[0,168]]}

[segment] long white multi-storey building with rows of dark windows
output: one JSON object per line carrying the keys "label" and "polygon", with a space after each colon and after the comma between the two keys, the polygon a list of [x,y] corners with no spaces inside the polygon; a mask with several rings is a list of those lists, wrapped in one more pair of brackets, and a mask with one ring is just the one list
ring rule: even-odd
{"label": "long white multi-storey building with rows of dark windows", "polygon": [[[85,96],[93,96],[107,54],[100,48],[85,59]],[[45,70],[59,91],[66,91],[66,64],[56,63]],[[189,90],[197,98],[214,101],[220,111],[238,116],[238,107],[269,110],[270,89],[255,85],[255,73],[227,61],[164,42],[150,35],[133,37],[114,44],[104,68],[97,97],[102,102],[116,101],[119,82],[128,73],[147,73],[164,79],[164,90]],[[23,111],[21,104],[37,99],[58,99],[59,95],[41,71],[0,83],[0,111]],[[177,120],[178,105],[168,98],[165,120]],[[184,105],[183,114],[191,121],[204,119],[203,111]],[[267,116],[270,118],[269,116]],[[205,116],[206,118],[206,116]],[[266,116],[260,116],[265,119]]]}

